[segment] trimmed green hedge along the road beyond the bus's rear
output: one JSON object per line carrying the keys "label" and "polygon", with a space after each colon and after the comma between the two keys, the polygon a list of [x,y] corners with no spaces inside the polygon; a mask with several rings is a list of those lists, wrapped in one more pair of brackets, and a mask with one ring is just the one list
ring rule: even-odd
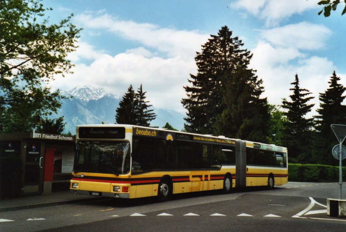
{"label": "trimmed green hedge along the road beyond the bus's rear", "polygon": [[[346,181],[346,167],[343,180]],[[339,182],[339,167],[320,164],[289,164],[288,181],[292,182]]]}

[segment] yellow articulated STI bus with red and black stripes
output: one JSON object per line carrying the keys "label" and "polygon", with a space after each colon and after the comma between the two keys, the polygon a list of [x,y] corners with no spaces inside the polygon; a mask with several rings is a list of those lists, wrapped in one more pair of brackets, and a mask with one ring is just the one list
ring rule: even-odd
{"label": "yellow articulated STI bus with red and black stripes", "polygon": [[137,198],[287,183],[287,149],[121,124],[77,126],[71,192]]}

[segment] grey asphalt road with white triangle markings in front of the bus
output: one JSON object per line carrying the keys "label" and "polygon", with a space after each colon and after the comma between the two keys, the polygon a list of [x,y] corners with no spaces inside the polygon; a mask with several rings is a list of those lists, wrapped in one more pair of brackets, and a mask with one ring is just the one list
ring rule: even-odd
{"label": "grey asphalt road with white triangle markings in front of the bus", "polygon": [[[273,190],[238,189],[1,212],[0,231],[345,231],[346,219],[327,216],[336,183],[288,183]],[[346,196],[346,192],[344,193]],[[30,219],[30,220],[29,220]]]}

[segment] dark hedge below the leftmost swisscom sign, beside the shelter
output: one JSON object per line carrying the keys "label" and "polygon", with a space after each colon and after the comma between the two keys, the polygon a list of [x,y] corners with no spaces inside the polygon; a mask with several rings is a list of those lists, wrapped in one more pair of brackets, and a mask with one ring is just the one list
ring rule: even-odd
{"label": "dark hedge below the leftmost swisscom sign, beside the shelter", "polygon": [[21,158],[0,158],[0,199],[20,195],[22,189],[21,175]]}

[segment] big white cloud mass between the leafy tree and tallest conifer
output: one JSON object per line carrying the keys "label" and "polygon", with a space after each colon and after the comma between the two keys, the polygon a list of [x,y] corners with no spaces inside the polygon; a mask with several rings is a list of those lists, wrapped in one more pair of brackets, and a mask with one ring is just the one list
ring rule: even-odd
{"label": "big white cloud mass between the leafy tree and tallest conifer", "polygon": [[71,54],[70,59],[83,61],[86,58],[92,63],[77,63],[73,68],[74,74],[56,78],[55,86],[72,89],[88,84],[122,96],[130,84],[135,90],[143,84],[147,100],[156,108],[184,111],[180,103],[186,97],[183,86],[188,84],[189,74],[197,72],[195,52],[201,50],[209,35],[119,21],[109,15],[78,15],[76,18],[84,28],[108,30],[114,36],[136,41],[142,46],[110,56],[103,50],[95,50],[95,47],[80,42],[80,48]]}

